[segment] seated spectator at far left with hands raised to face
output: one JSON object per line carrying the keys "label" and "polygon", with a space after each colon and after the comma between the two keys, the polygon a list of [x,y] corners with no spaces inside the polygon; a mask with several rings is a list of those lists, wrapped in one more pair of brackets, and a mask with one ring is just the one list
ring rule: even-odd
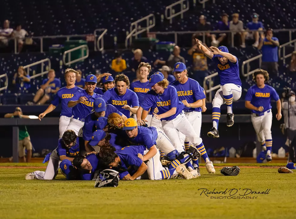
{"label": "seated spectator at far left with hands raised to face", "polygon": [[17,92],[28,90],[31,87],[30,76],[23,66],[18,67],[18,72],[14,74],[12,84],[15,85]]}

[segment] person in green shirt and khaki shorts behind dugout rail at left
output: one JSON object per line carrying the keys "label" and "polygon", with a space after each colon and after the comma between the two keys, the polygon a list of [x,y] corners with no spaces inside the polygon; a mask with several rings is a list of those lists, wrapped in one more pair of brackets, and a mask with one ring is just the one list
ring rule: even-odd
{"label": "person in green shirt and khaki shorts behind dugout rail at left", "polygon": [[[29,119],[29,116],[23,115],[20,107],[15,108],[14,113],[7,113],[4,118],[25,118]],[[32,158],[32,143],[30,135],[25,125],[20,125],[18,131],[18,157],[21,162],[26,162],[26,149],[27,149],[27,162],[31,162]]]}

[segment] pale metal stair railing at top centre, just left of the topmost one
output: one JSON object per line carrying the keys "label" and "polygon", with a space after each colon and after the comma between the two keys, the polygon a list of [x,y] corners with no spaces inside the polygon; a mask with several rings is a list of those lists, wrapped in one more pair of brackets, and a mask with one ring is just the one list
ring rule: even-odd
{"label": "pale metal stair railing at top centre, just left of the topmost one", "polygon": [[[152,20],[150,19],[152,18]],[[139,25],[140,22],[146,21],[146,27],[141,27]],[[125,38],[125,47],[128,47],[128,41],[130,41],[130,45],[132,44],[132,38],[138,38],[138,35],[143,32],[149,33],[149,29],[155,26],[155,16],[153,14],[147,15],[133,23],[130,24],[130,33]]]}

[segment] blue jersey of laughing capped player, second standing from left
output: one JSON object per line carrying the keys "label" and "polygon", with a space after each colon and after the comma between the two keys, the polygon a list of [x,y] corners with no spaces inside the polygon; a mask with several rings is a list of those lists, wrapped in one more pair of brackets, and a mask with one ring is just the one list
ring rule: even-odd
{"label": "blue jersey of laughing capped player, second standing from left", "polygon": [[94,94],[91,96],[88,95],[85,90],[79,90],[74,94],[70,101],[77,101],[80,97],[86,97],[87,100],[74,106],[72,108],[72,114],[75,118],[85,119],[85,117],[92,111],[95,99],[102,97],[102,95],[96,94],[94,92]]}

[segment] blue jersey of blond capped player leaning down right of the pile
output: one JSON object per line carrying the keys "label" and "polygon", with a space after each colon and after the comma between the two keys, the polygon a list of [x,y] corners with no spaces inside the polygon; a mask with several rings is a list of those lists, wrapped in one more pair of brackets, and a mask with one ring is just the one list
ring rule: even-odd
{"label": "blue jersey of blond capped player leaning down right of the pile", "polygon": [[172,120],[182,112],[184,104],[179,101],[176,88],[168,85],[168,88],[165,88],[161,95],[150,90],[141,103],[141,107],[146,111],[148,111],[150,107],[157,107],[159,110],[157,114],[163,114],[171,108],[176,107],[176,113],[174,115],[162,118],[163,120]]}

